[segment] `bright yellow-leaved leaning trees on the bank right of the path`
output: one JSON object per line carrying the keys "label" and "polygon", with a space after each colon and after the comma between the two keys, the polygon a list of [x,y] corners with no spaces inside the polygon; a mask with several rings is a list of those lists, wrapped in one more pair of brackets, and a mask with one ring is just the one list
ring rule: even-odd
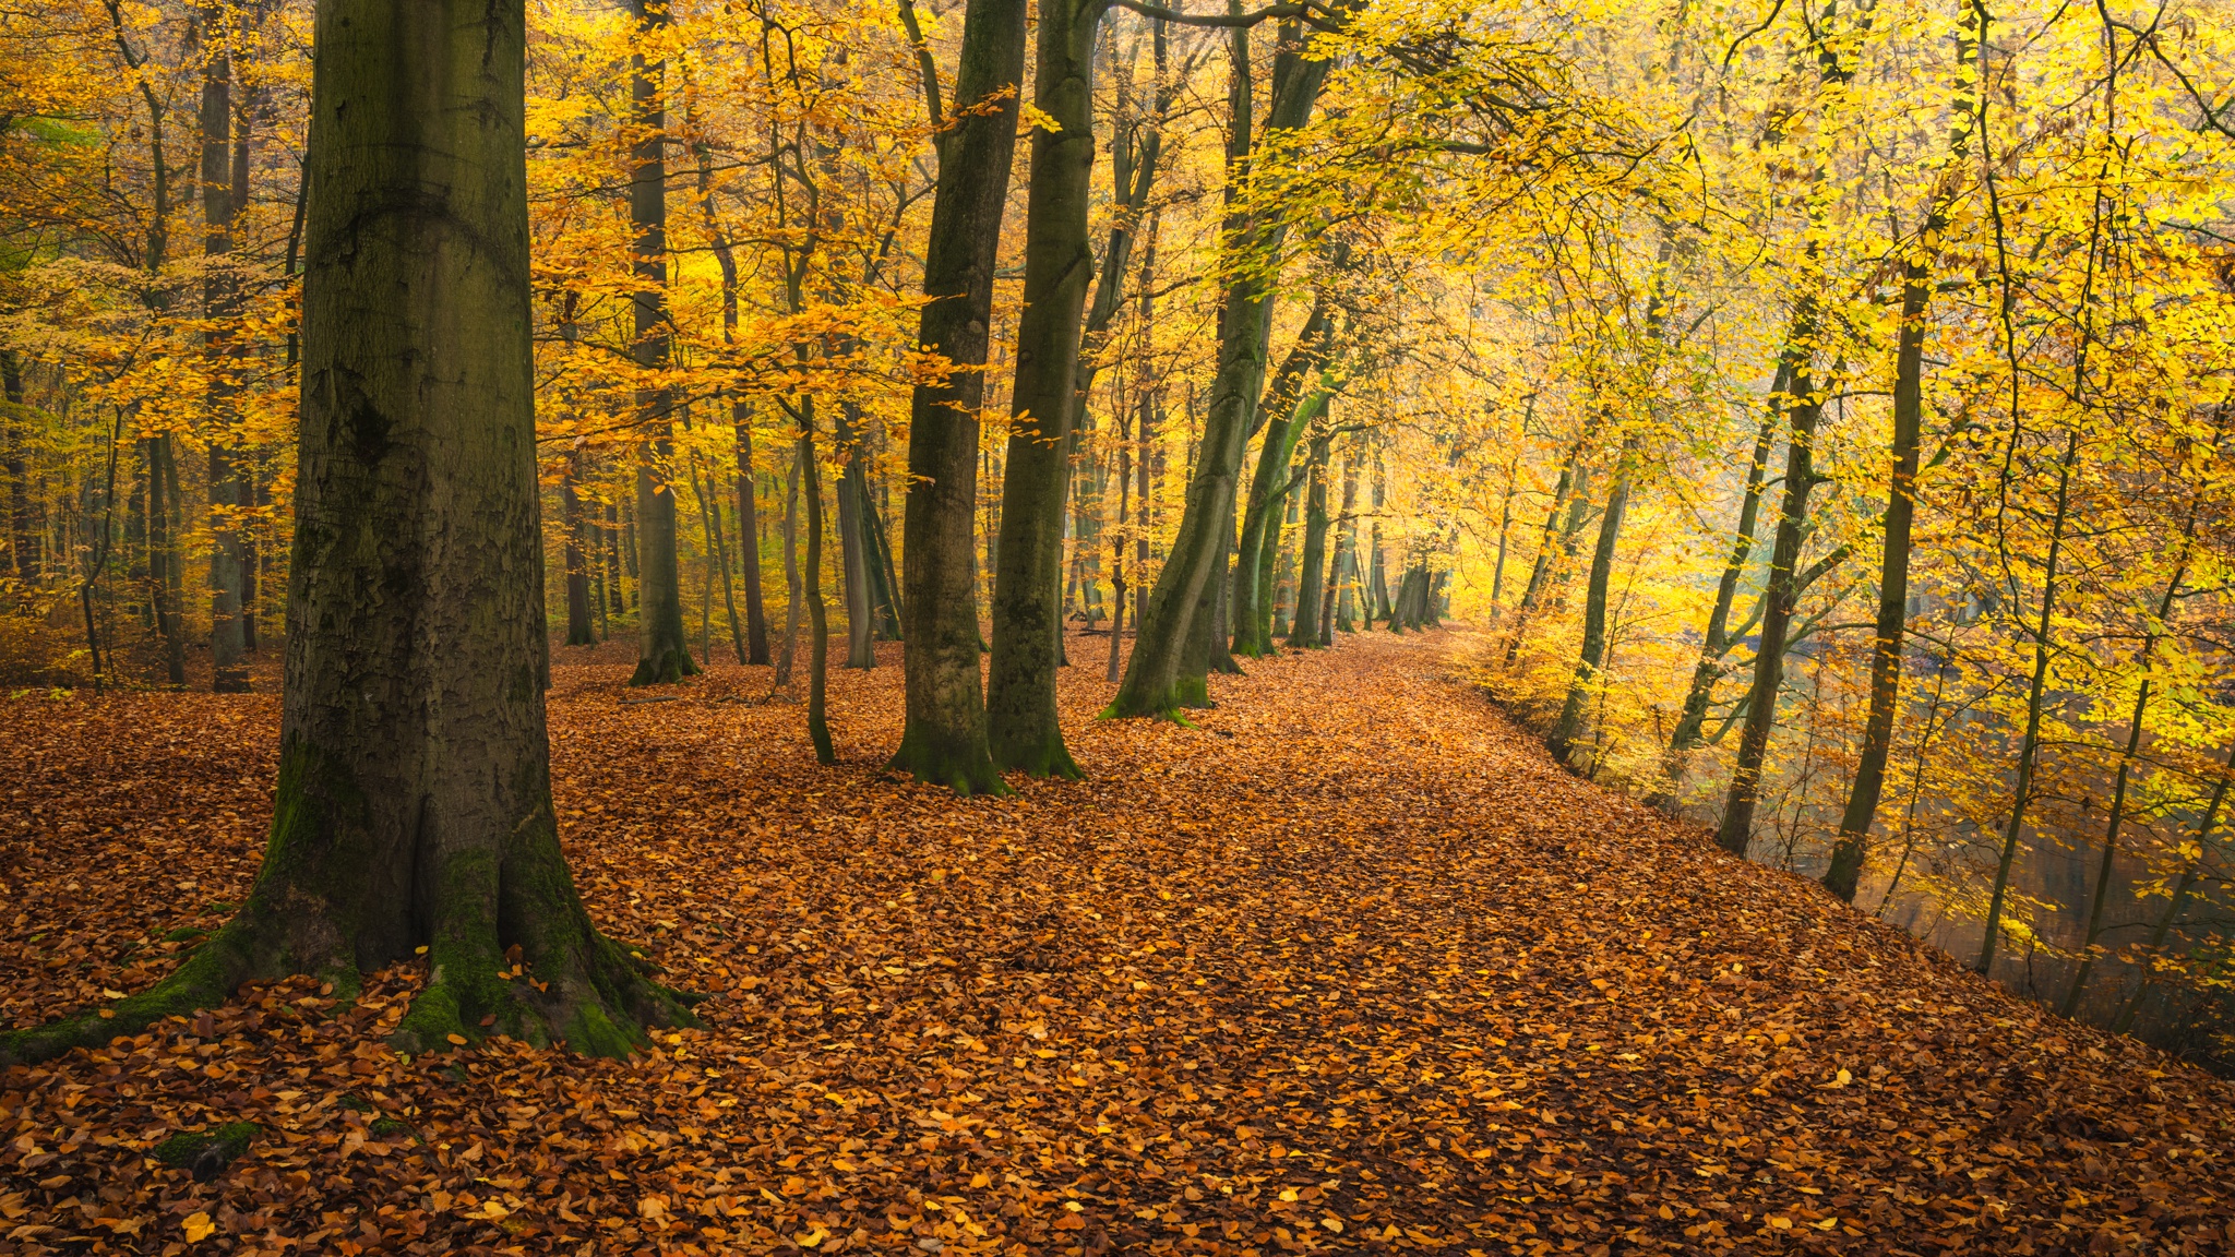
{"label": "bright yellow-leaved leaning trees on the bank right of the path", "polygon": [[1725,850],[2226,1060],[2224,16],[1690,29],[1634,51],[1705,197],[1540,235],[1513,311],[1484,680]]}

